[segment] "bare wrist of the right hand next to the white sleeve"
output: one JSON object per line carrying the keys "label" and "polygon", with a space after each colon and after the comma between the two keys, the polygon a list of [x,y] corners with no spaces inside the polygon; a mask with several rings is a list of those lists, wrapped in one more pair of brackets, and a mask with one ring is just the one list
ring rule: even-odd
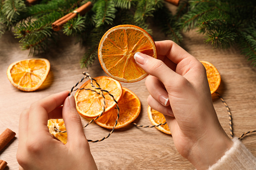
{"label": "bare wrist of the right hand next to the white sleeve", "polygon": [[233,141],[222,128],[221,133],[219,131],[207,133],[192,147],[188,160],[197,169],[208,169],[232,147],[232,144]]}

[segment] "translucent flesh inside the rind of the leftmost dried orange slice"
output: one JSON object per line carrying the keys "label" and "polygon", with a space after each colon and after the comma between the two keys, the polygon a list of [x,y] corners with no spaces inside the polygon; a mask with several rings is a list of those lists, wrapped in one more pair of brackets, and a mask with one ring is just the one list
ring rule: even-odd
{"label": "translucent flesh inside the rind of the leftmost dried orange slice", "polygon": [[15,84],[32,88],[37,86],[47,71],[47,65],[42,60],[26,60],[14,65],[11,76]]}

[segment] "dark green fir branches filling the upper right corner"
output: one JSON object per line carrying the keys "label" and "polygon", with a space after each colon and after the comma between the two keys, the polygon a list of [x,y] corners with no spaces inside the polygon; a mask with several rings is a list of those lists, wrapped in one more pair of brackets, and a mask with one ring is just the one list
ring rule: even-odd
{"label": "dark green fir branches filling the upper right corner", "polygon": [[184,31],[197,28],[199,33],[205,34],[205,43],[214,48],[238,46],[255,66],[255,7],[255,1],[191,0],[181,23]]}

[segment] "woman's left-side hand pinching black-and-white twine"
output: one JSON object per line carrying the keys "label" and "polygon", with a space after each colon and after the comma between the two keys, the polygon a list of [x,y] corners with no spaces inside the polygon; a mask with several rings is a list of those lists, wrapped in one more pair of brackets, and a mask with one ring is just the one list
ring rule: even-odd
{"label": "woman's left-side hand pinching black-and-white twine", "polygon": [[[21,113],[17,151],[20,169],[97,169],[74,97],[67,96],[68,91],[53,94]],[[48,119],[62,117],[66,144],[53,137],[47,127]]]}

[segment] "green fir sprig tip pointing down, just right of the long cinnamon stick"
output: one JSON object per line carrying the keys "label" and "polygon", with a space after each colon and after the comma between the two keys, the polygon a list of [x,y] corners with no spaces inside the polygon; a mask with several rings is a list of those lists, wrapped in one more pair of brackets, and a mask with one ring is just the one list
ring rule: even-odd
{"label": "green fir sprig tip pointing down, just right of the long cinnamon stick", "polygon": [[92,10],[95,12],[94,22],[96,28],[105,23],[108,25],[113,24],[115,13],[117,12],[113,0],[98,0]]}

